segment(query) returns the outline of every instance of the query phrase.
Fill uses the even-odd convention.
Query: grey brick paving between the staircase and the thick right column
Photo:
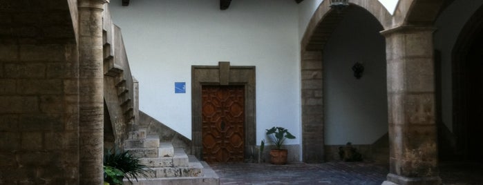
[[[368,163],[210,164],[220,184],[381,184],[388,168]]]

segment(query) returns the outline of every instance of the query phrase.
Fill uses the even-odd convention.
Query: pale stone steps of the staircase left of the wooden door
[[[140,157],[140,163],[151,170],[151,177],[138,178],[134,184],[219,184],[218,175],[205,162],[188,156],[182,148],[173,148],[171,142],[160,142],[158,135],[147,135],[146,128],[129,132],[124,150]]]

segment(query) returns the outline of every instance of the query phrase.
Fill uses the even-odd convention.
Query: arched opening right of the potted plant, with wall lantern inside
[[[303,40],[304,162],[339,160],[339,147],[351,142],[364,159],[388,164],[386,44],[381,30],[374,15],[351,4],[341,12],[325,12],[310,39]],[[356,75],[358,65],[364,70]]]

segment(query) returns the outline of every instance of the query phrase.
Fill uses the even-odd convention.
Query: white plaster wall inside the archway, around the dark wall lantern
[[[349,12],[323,50],[325,144],[372,144],[388,132],[386,48],[379,22]],[[352,66],[364,65],[361,79]]]

